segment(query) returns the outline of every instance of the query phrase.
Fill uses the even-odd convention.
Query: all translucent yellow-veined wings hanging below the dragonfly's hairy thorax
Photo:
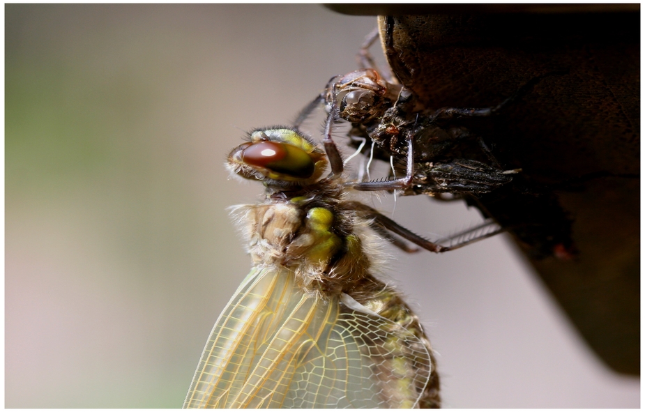
[[[254,268],[215,323],[184,407],[412,407],[430,372],[423,343],[396,323],[347,295],[309,296],[290,270]]]

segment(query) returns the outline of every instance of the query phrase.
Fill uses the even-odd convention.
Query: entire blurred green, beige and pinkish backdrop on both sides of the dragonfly
[[[354,70],[376,18],[5,7],[5,406],[181,407],[250,268],[225,208],[262,188],[229,179],[227,153]],[[426,236],[480,219],[420,196],[372,202]],[[639,379],[602,366],[504,236],[388,252],[390,282],[439,352],[444,406],[639,407]]]

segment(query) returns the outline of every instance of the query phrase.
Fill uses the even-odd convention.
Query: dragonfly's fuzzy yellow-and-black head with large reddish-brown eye
[[[325,152],[296,128],[257,129],[250,141],[229,153],[227,168],[267,186],[304,186],[317,181],[327,165]]]

